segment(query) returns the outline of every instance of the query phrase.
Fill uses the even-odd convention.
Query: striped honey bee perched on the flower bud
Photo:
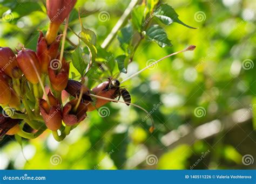
[[[120,81],[118,79],[113,79],[112,77],[109,77],[109,85],[105,87],[104,90],[110,90],[110,89],[116,89],[113,97],[118,97],[118,100],[120,100],[120,97],[122,96],[124,101],[127,102],[126,105],[130,105],[128,103],[131,103],[131,95],[127,89],[120,87]]]

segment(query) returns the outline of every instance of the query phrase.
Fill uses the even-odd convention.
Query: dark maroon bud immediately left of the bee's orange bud
[[[89,89],[78,81],[68,80],[68,84],[65,88],[65,90],[73,97],[78,97],[81,89],[83,90],[83,96],[82,96],[83,101],[84,102],[92,101],[91,97],[88,96],[88,94],[90,94]]]

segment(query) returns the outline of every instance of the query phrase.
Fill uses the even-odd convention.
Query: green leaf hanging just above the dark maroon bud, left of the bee
[[[78,72],[83,76],[85,74],[85,69],[87,64],[83,59],[82,49],[78,46],[72,53],[73,66],[78,70]]]

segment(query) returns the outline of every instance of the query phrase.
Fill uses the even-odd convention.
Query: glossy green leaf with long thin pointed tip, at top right
[[[179,16],[176,13],[176,11],[168,4],[161,4],[153,15],[157,17],[165,25],[170,25],[171,23],[176,22],[191,29],[196,29],[195,27],[191,27],[181,22],[181,20],[178,18]]]

